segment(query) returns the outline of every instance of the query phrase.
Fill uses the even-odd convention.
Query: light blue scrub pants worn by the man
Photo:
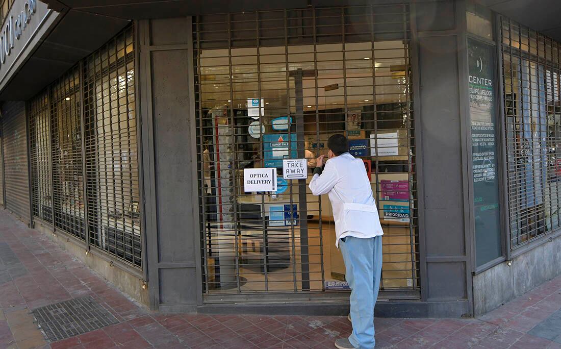
[[[373,349],[374,305],[382,270],[382,237],[347,236],[339,242],[345,262],[345,278],[351,288],[352,333],[349,341],[360,349]]]

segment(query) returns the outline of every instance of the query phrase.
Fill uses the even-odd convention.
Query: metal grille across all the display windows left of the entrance
[[[34,216],[138,270],[134,62],[128,26],[28,105]]]

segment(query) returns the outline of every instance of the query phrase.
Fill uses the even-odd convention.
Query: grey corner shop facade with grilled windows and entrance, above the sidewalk
[[[377,316],[561,270],[553,2],[4,3],[0,203],[151,309],[345,314],[329,200],[282,171],[334,133],[384,227]]]

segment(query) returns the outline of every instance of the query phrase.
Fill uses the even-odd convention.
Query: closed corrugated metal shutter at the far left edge
[[[2,105],[2,126],[6,208],[29,223],[29,168],[24,102],[6,102]]]

